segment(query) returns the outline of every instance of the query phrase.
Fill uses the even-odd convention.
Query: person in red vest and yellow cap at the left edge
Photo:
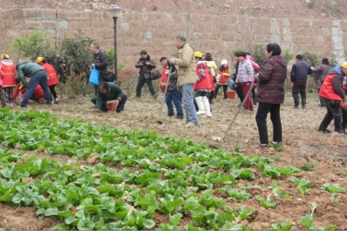
[[[13,89],[16,86],[15,67],[12,60],[10,60],[10,56],[6,54],[1,55],[0,78],[2,80],[3,92],[5,92],[5,104],[8,107],[13,107]]]

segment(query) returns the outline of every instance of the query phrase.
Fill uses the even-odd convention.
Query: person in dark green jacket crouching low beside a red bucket
[[[123,93],[121,87],[119,85],[112,82],[101,82],[99,83],[98,92],[96,96],[92,98],[92,103],[95,105],[95,112],[108,112],[107,103],[117,104],[116,112],[119,113],[124,110],[124,105],[126,104],[126,100],[128,96]]]

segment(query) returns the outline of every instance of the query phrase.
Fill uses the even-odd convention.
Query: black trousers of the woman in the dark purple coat
[[[260,144],[268,144],[269,136],[267,134],[266,117],[270,112],[270,119],[273,125],[273,141],[282,142],[282,123],[280,118],[280,103],[259,103],[255,121],[259,131]]]

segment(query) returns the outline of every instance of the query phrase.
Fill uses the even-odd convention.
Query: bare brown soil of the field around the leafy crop
[[[317,203],[318,206],[313,223],[316,227],[337,225],[339,230],[346,229],[346,194],[339,194],[341,200],[336,206],[332,206],[330,193],[319,189],[323,182],[329,182],[330,184],[339,183],[341,187],[346,189],[346,137],[334,132],[331,135],[317,132],[319,123],[325,114],[325,109],[317,107],[318,99],[308,99],[305,110],[294,110],[292,109],[292,99],[287,98],[285,100],[281,109],[283,128],[282,151],[276,152],[273,148],[264,148],[262,150],[255,148],[259,142],[255,112],[239,114],[225,141],[214,142],[213,136],[223,137],[226,132],[226,128],[228,128],[232,117],[237,111],[236,105],[239,103],[237,99],[224,101],[219,96],[217,102],[212,105],[212,119],[199,118],[201,125],[198,128],[185,128],[179,125],[177,119],[167,117],[166,105],[164,105],[162,114],[164,123],[162,125],[156,123],[161,97],[154,100],[149,99],[149,96],[144,96],[141,101],[130,98],[126,103],[125,111],[121,114],[115,112],[96,114],[92,103],[87,98],[62,100],[60,104],[51,106],[31,104],[31,107],[35,110],[48,110],[53,115],[63,119],[83,119],[85,122],[91,122],[95,126],[112,125],[115,128],[126,130],[154,130],[159,135],[192,139],[194,142],[203,142],[203,144],[212,148],[225,148],[230,152],[235,151],[235,146],[238,145],[241,147],[240,152],[244,155],[258,154],[264,157],[279,155],[280,162],[276,162],[276,165],[280,166],[289,164],[301,169],[301,166],[308,162],[312,166],[312,171],[302,171],[302,173],[298,173],[295,176],[312,181],[314,187],[310,193],[307,195],[298,194],[296,186],[289,182],[286,176],[280,176],[276,180],[278,180],[279,185],[282,185],[283,190],[288,191],[289,195],[293,196],[293,200],[283,200],[275,197],[274,200],[276,200],[277,205],[274,209],[264,209],[255,199],[258,195],[266,198],[266,196],[271,194],[271,189],[268,186],[273,182],[270,178],[263,178],[259,169],[255,169],[255,180],[252,181],[252,184],[260,185],[262,189],[250,189],[251,198],[246,200],[246,202],[236,203],[235,199],[228,197],[226,193],[218,191],[216,191],[215,196],[224,198],[233,209],[237,209],[240,206],[255,208],[256,212],[252,215],[252,219],[242,221],[244,225],[248,225],[248,228],[254,227],[264,230],[271,223],[289,220],[294,223],[291,230],[305,230],[305,226],[299,224],[298,221],[311,211],[311,203]],[[257,106],[255,106],[256,108]],[[17,107],[15,110],[21,109]],[[268,123],[268,128],[271,140],[271,123]],[[330,130],[333,130],[333,128],[330,127]],[[38,155],[40,158],[51,157],[58,163],[69,160],[69,157],[62,155],[25,152],[31,155]],[[244,182],[239,180],[239,182],[246,183],[246,180]],[[167,223],[169,218],[168,215],[164,214],[158,214],[155,217],[155,222],[157,223],[155,228],[158,228],[159,223]],[[33,207],[8,207],[0,204],[0,228],[3,229],[48,230],[62,222],[58,221],[58,219],[43,219],[42,216],[36,216]],[[189,219],[187,221],[182,220],[180,225],[183,228],[185,224],[189,223],[191,223]]]

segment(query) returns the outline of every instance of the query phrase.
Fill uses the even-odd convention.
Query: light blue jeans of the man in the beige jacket
[[[187,123],[195,123],[198,125],[198,115],[196,114],[196,110],[194,107],[193,101],[193,87],[194,84],[185,84],[181,86],[181,92],[183,96],[183,103],[185,104],[185,114],[186,114],[186,122]]]

